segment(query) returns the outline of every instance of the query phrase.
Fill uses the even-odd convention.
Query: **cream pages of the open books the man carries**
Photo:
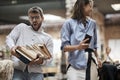
[[[17,48],[17,51],[20,52],[20,54],[23,54],[25,57],[27,56],[30,59],[36,59],[38,57],[49,59],[51,58],[51,54],[48,51],[45,44],[35,44],[35,45],[27,45],[27,46],[21,46]]]

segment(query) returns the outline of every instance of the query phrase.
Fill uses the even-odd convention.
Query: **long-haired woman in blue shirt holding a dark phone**
[[[97,55],[96,21],[91,19],[93,0],[77,0],[73,14],[66,20],[61,29],[61,49],[68,52],[68,80],[97,80],[99,63]],[[92,58],[95,54],[96,60]],[[87,57],[88,56],[88,57]],[[93,61],[92,61],[93,60]],[[91,73],[90,68],[93,68]],[[94,74],[93,74],[94,73]]]

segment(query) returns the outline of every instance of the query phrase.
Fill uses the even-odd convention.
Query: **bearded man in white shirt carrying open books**
[[[42,29],[44,20],[42,9],[38,6],[30,8],[28,17],[31,25],[20,23],[6,37],[6,44],[11,50],[11,59],[14,62],[13,80],[43,80],[41,66],[45,66],[52,60],[53,40]],[[43,46],[33,46],[35,44],[46,47],[44,49],[48,50],[48,58],[41,57],[39,54],[41,52],[39,49],[42,50]],[[27,55],[35,54],[32,51],[35,51],[37,56],[30,59]],[[28,54],[26,55],[24,52]]]

